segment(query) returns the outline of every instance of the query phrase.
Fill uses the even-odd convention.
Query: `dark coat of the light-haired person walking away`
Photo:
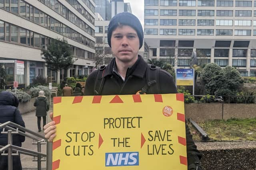
[[[38,96],[34,102],[36,116],[46,116],[49,110],[48,100],[45,96]]]

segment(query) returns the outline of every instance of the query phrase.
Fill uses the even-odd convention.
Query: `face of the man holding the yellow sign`
[[[111,36],[111,49],[116,60],[130,63],[137,59],[140,40],[135,29],[128,25],[118,26]]]

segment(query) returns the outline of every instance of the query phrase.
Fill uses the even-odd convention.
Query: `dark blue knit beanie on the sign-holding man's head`
[[[122,13],[116,14],[110,20],[110,23],[108,24],[108,45],[111,47],[112,32],[116,29],[116,27],[119,24],[129,25],[130,27],[136,30],[138,34],[138,38],[140,40],[140,48],[141,48],[143,44],[143,38],[144,38],[143,28],[140,23],[140,20],[130,12],[122,12]]]

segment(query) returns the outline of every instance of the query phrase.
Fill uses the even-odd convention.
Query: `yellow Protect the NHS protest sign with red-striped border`
[[[53,170],[187,170],[183,94],[54,98]]]

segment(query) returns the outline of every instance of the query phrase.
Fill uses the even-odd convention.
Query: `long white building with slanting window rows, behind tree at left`
[[[37,76],[48,82],[86,75],[94,63],[93,0],[0,0],[0,65],[6,83],[28,86]],[[52,39],[68,41],[75,57],[67,70],[53,72],[42,59]]]

